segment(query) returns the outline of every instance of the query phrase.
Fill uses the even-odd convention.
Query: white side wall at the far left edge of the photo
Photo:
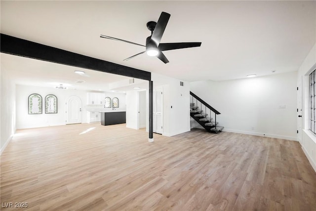
[[[0,70],[0,154],[11,140],[15,129],[15,84],[8,75],[8,70]]]

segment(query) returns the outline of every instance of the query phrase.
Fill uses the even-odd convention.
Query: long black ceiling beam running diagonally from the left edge
[[[147,71],[126,67],[5,34],[0,34],[0,51],[2,53],[151,81],[151,73]]]

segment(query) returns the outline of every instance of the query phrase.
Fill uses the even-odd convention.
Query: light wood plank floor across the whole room
[[[316,210],[316,173],[298,142],[201,129],[154,140],[125,124],[18,130],[1,155],[2,207]]]

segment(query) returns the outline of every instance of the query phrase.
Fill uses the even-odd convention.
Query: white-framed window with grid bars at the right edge
[[[316,70],[310,74],[310,97],[309,97],[309,126],[316,134]]]

